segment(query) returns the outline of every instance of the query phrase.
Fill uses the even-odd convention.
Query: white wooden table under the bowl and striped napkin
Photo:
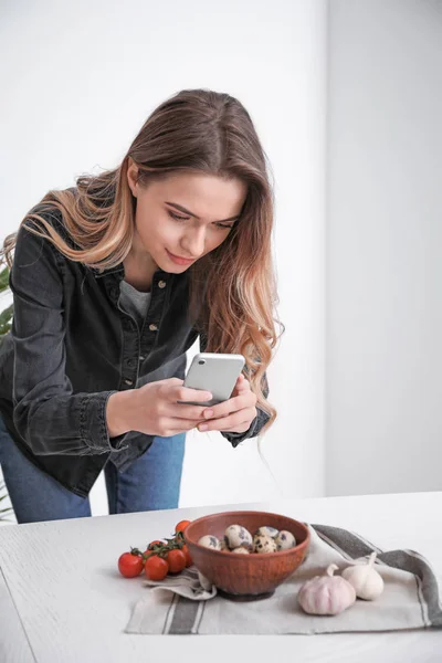
[[[333,635],[128,635],[146,591],[118,576],[131,546],[167,536],[182,519],[242,508],[352,529],[383,549],[412,548],[442,586],[442,492],[272,501],[0,527],[1,663],[251,660],[441,663],[442,630]],[[229,659],[227,640],[236,659]],[[277,655],[276,655],[277,653]]]

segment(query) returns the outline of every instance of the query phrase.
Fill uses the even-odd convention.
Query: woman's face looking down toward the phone
[[[175,274],[227,239],[246,196],[241,180],[211,175],[176,173],[146,187],[136,182],[131,162],[127,177],[137,199],[133,251]]]

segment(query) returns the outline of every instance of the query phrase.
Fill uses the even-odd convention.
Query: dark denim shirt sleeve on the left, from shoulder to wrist
[[[110,393],[73,393],[65,371],[63,261],[49,240],[21,227],[13,293],[13,422],[35,455],[115,451],[106,427]]]

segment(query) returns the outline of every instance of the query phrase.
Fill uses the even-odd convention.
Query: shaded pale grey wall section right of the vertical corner
[[[441,490],[442,3],[333,0],[327,493]]]

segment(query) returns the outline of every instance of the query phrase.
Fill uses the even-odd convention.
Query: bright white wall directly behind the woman
[[[2,234],[50,188],[122,159],[183,87],[250,109],[276,179],[286,334],[270,370],[280,419],[263,442],[189,439],[182,505],[324,493],[325,0],[10,3],[0,24]],[[103,482],[94,513],[105,513]]]

